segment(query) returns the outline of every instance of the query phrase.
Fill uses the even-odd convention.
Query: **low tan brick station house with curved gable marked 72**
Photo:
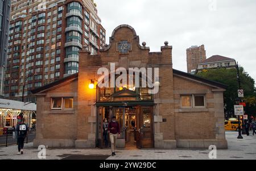
[[[161,52],[150,52],[132,27],[121,25],[99,55],[82,49],[79,73],[32,91],[38,104],[34,145],[104,147],[103,120],[115,115],[118,147],[227,148],[226,86],[172,69],[172,46],[164,44]],[[110,69],[111,63],[115,69],[159,68],[159,92],[148,94],[148,87],[134,85],[98,87],[97,70]]]

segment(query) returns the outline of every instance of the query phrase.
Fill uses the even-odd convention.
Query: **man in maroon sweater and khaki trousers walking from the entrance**
[[[112,156],[115,155],[115,144],[117,142],[117,137],[120,136],[120,129],[119,129],[119,124],[116,122],[116,117],[112,117],[112,121],[109,123],[109,137],[110,137],[110,142],[111,142],[111,151],[112,151]]]

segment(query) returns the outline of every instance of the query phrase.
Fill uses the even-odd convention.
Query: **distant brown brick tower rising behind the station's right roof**
[[[197,64],[201,61],[206,60],[206,53],[204,45],[192,46],[187,49],[187,72],[193,73],[197,68]]]

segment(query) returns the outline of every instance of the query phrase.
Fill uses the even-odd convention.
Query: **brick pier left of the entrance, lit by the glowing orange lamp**
[[[96,67],[80,68],[78,80],[77,140],[75,147],[96,147]],[[95,82],[94,89],[89,84]]]

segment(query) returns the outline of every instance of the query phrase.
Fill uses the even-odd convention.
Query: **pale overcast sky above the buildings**
[[[187,72],[186,49],[205,45],[207,57],[236,59],[256,80],[255,0],[94,0],[106,29],[132,26],[151,52],[172,45],[174,69]]]

